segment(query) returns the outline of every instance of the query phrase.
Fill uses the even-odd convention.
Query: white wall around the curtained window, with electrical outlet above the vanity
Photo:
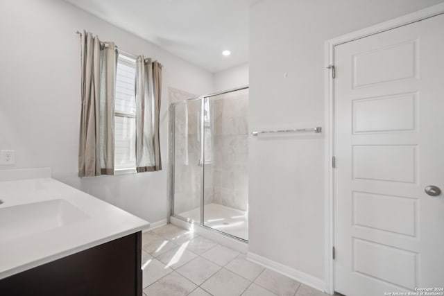
[[[80,39],[85,28],[121,49],[164,64],[163,171],[77,177],[80,122]],[[147,28],[149,30],[149,28]],[[167,218],[168,87],[213,90],[213,75],[64,1],[0,1],[0,149],[16,151],[15,166],[50,166],[53,177],[150,222]]]

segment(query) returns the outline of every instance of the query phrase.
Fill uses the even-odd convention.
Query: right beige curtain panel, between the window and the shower
[[[136,63],[136,168],[160,171],[160,101],[162,64],[139,55]]]

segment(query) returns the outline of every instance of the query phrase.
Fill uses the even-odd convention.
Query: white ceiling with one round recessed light
[[[249,8],[259,0],[65,1],[215,73],[248,62]]]

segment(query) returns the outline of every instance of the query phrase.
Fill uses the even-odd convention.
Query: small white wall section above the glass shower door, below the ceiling
[[[224,71],[214,73],[214,92],[223,92],[248,85],[248,64],[241,64]]]

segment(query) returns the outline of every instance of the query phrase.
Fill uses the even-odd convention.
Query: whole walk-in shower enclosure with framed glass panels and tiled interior
[[[248,241],[248,87],[169,112],[171,216]]]

